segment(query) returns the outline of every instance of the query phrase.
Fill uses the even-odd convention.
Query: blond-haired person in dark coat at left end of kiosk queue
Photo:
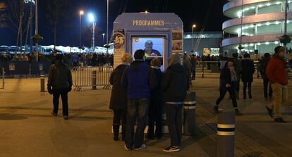
[[[109,103],[109,109],[114,111],[113,130],[114,140],[118,141],[118,132],[120,130],[120,122],[122,123],[122,140],[125,139],[126,132],[126,115],[127,115],[127,89],[121,84],[121,77],[123,71],[133,61],[133,57],[130,54],[124,54],[121,58],[122,64],[118,65],[111,77],[109,82],[113,85],[111,90],[111,101]]]

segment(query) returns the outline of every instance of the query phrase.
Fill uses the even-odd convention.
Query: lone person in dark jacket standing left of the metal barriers
[[[72,89],[72,75],[68,66],[63,63],[63,56],[56,55],[56,63],[51,65],[49,69],[49,77],[47,83],[49,94],[53,94],[54,110],[51,111],[52,115],[58,114],[59,98],[61,95],[63,118],[68,120],[68,92]]]

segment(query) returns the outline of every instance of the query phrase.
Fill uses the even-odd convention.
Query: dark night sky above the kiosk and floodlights
[[[5,0],[0,0],[5,1]],[[14,0],[13,0],[14,1]],[[61,1],[61,0],[60,0]],[[57,45],[78,46],[79,43],[79,11],[85,11],[83,17],[83,29],[90,27],[87,20],[87,13],[94,13],[97,16],[97,45],[102,45],[102,33],[106,32],[107,27],[107,0],[71,0],[71,14],[66,23],[58,27]],[[127,13],[137,13],[141,11],[176,13],[184,23],[184,31],[190,32],[193,23],[197,25],[196,30],[200,31],[204,23],[208,9],[210,10],[209,19],[205,31],[221,31],[221,25],[226,20],[222,13],[223,5],[227,0],[214,0],[214,4],[209,4],[213,0],[109,0],[109,32],[113,27],[116,17],[123,11]],[[51,27],[47,22],[44,5],[39,2],[39,34],[42,34],[44,41],[40,44],[49,45],[53,43]],[[0,45],[16,45],[17,33],[9,28],[0,28]],[[85,37],[84,37],[85,38]],[[83,41],[85,46],[86,40]]]

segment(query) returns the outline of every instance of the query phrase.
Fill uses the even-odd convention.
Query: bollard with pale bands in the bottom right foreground
[[[234,156],[235,113],[222,112],[217,124],[217,157]]]

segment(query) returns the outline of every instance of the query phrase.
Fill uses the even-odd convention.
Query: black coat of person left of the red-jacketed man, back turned
[[[241,80],[243,82],[253,82],[253,74],[255,73],[255,65],[250,59],[241,60]]]

